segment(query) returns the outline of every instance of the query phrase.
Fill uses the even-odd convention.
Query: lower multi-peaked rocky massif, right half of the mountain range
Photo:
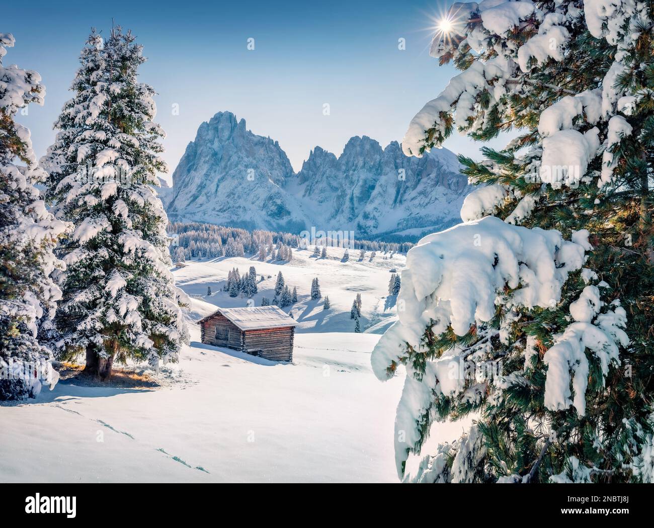
[[[384,149],[369,137],[353,137],[336,158],[316,148],[298,173],[301,198],[329,225],[354,226],[355,234],[449,227],[459,222],[466,178],[446,149],[407,157],[398,142]]]

